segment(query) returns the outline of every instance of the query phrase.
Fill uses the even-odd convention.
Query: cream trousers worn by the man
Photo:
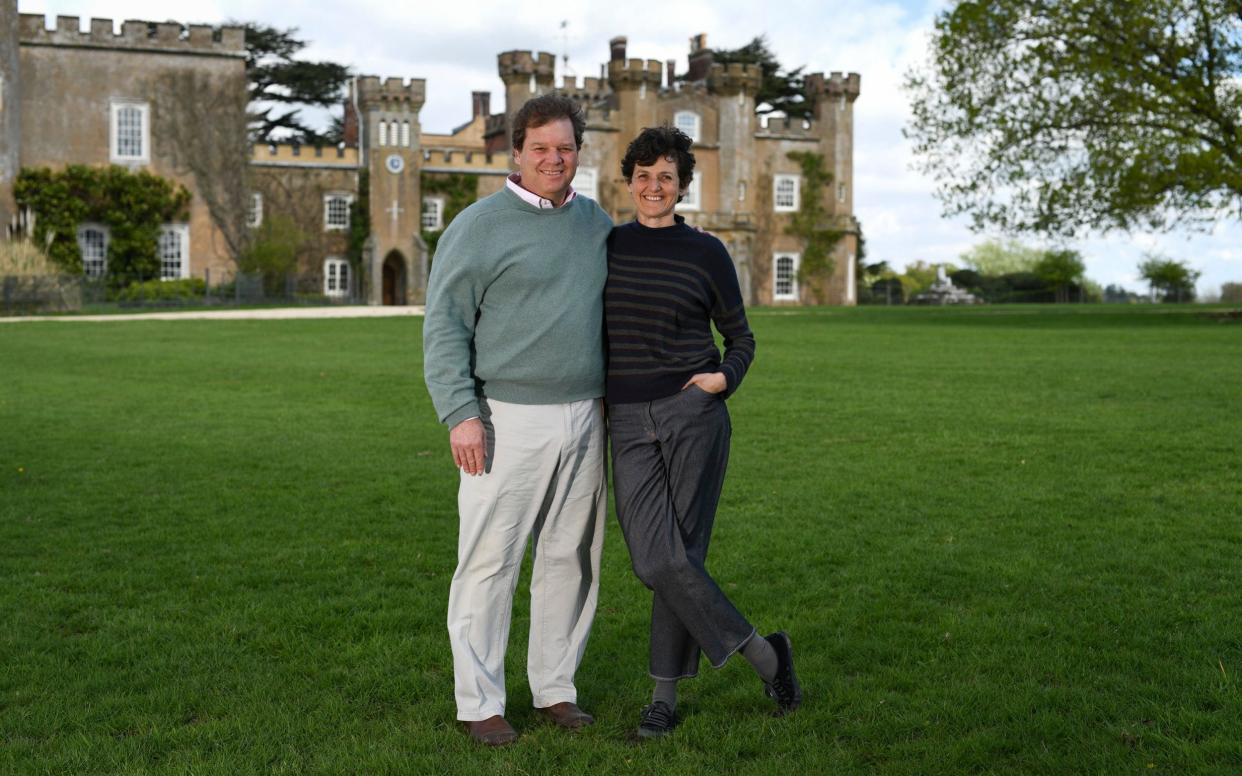
[[[607,517],[599,400],[483,402],[487,468],[461,476],[457,571],[448,592],[457,719],[504,714],[513,592],[532,539],[527,678],[535,708],[578,702],[574,673],[599,597]]]

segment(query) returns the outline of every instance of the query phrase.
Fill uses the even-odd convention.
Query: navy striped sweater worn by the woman
[[[607,400],[672,396],[698,372],[724,372],[728,397],[755,356],[738,273],[724,245],[677,216],[674,226],[631,221],[609,237],[604,293]],[[710,325],[724,338],[724,356]]]

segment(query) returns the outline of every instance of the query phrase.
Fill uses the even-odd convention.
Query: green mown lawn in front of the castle
[[[0,772],[1231,774],[1242,322],[755,310],[712,570],[794,637],[637,744],[648,593],[609,525],[599,724],[453,723],[456,473],[419,319],[0,325]],[[519,586],[524,590],[525,584]]]

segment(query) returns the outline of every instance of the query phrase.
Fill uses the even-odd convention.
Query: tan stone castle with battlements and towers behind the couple
[[[443,191],[465,185],[473,199],[502,187],[514,169],[513,114],[530,97],[556,91],[578,101],[587,120],[574,187],[614,220],[633,217],[620,174],[630,139],[643,127],[676,125],[694,140],[698,160],[678,212],[729,247],[748,303],[853,304],[858,74],[810,74],[810,119],[763,120],[754,112],[759,67],[713,62],[705,36],[691,40],[683,74],[676,61],[627,58],[626,47],[625,37],[612,38],[599,78],[560,83],[551,53],[505,51],[497,61],[505,111],[492,113],[491,94],[474,92],[471,119],[450,134],[422,132],[422,79],[356,77],[345,97],[339,148],[256,145],[248,149],[248,165],[236,165],[246,169],[210,178],[178,153],[185,125],[199,127],[193,144],[210,151],[212,144],[241,137],[243,120],[241,127],[196,117],[188,122],[181,113],[194,106],[176,94],[185,88],[168,84],[193,83],[199,102],[209,93],[243,97],[240,27],[125,21],[117,35],[111,20],[93,19],[83,30],[77,17],[60,16],[48,30],[43,16],[19,14],[16,0],[0,0],[0,223],[21,228],[31,217],[12,200],[22,168],[76,163],[147,169],[193,195],[188,221],[161,232],[164,277],[220,278],[236,266],[229,223],[221,228],[209,200],[221,184],[243,186],[246,227],[283,216],[306,235],[298,273],[308,288],[370,304],[419,303],[432,258],[427,242],[453,215]],[[807,194],[791,151],[821,156],[831,183]],[[804,196],[820,197],[823,226],[845,233],[832,248],[831,276],[810,282],[799,279],[805,240],[790,231]],[[364,204],[369,235],[361,258],[351,262],[350,212]],[[78,241],[88,274],[106,271],[106,226],[84,223],[65,238]]]

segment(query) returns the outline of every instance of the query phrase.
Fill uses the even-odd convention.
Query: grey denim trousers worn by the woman
[[[724,400],[698,386],[609,405],[617,519],[653,592],[656,679],[697,675],[700,652],[719,668],[755,632],[705,567],[732,431]]]

